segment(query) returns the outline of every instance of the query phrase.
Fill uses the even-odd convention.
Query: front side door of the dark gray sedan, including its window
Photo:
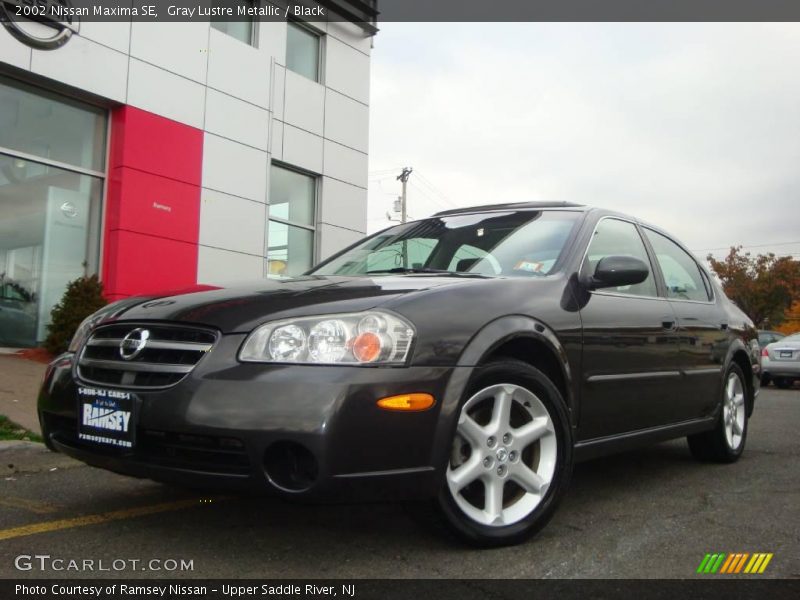
[[[637,285],[589,293],[580,310],[583,378],[579,439],[673,422],[678,339],[669,302],[659,296],[653,265],[637,225],[605,217],[595,227],[581,266],[594,272],[604,256],[627,255],[650,266]]]

